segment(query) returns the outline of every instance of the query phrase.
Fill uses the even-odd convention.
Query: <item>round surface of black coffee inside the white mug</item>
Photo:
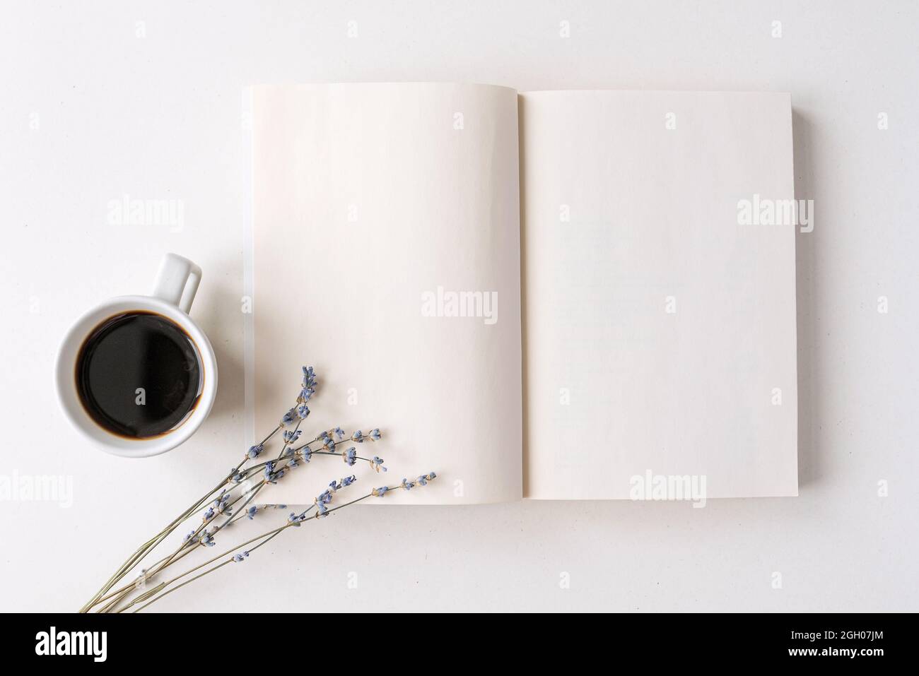
[[[165,434],[193,411],[201,389],[194,341],[174,321],[134,311],[99,324],[76,358],[76,390],[109,432]]]

